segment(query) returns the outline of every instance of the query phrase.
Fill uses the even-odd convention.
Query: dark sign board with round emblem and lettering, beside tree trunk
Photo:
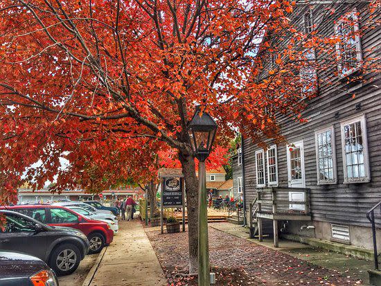
[[[164,208],[181,208],[183,205],[183,184],[182,179],[163,178],[163,197]]]

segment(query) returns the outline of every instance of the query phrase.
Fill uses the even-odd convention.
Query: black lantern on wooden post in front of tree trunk
[[[199,160],[198,189],[199,189],[199,220],[198,220],[198,285],[211,285],[209,268],[208,242],[208,210],[206,208],[206,170],[205,160],[208,158],[217,124],[209,114],[201,113],[200,106],[196,107],[195,114],[189,124],[190,145],[195,157]]]

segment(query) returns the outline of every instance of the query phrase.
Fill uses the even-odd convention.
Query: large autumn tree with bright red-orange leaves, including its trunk
[[[96,190],[121,177],[118,171],[142,170],[139,163],[147,166],[152,150],[176,150],[194,273],[198,197],[188,122],[202,105],[219,125],[216,145],[226,146],[236,129],[279,137],[277,112],[303,119],[301,99],[313,95],[300,92],[297,74],[308,60],[300,47],[329,50],[339,39],[296,30],[294,6],[285,0],[1,1],[6,182],[0,181],[0,203],[15,199],[24,177],[35,179],[35,187],[56,179],[57,190],[78,183]],[[274,35],[287,39],[282,50],[272,45]],[[274,51],[276,69],[268,67]],[[122,170],[129,162],[135,163]]]

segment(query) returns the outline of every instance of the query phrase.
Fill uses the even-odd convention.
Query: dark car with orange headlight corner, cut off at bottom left
[[[0,286],[21,285],[58,286],[58,280],[54,271],[41,259],[13,251],[0,251]]]

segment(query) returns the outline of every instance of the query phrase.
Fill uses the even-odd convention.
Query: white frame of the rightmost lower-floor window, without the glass
[[[364,172],[365,177],[348,179],[348,172],[346,170],[346,155],[345,155],[345,135],[344,125],[353,124],[360,121],[362,132],[362,150],[364,152]],[[369,168],[369,152],[368,152],[368,135],[366,133],[366,119],[365,115],[361,114],[353,118],[348,118],[340,123],[340,132],[342,133],[342,157],[343,157],[343,169],[344,169],[344,184],[356,184],[356,183],[368,183],[371,181],[371,170]]]

